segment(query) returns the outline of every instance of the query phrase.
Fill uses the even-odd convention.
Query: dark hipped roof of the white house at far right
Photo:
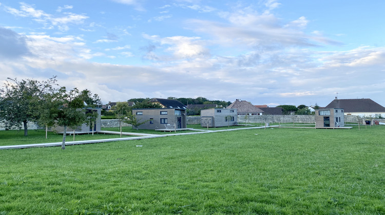
[[[385,107],[372,99],[334,99],[325,108],[341,108],[345,113],[385,112]]]

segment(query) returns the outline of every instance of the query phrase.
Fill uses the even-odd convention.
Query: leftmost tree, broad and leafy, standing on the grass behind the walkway
[[[26,79],[18,81],[16,78],[7,78],[4,88],[0,90],[0,118],[5,120],[6,128],[24,126],[24,136],[28,136],[29,121],[37,121],[41,107],[41,99],[47,93],[52,93],[56,84],[56,76],[46,80],[37,81]]]

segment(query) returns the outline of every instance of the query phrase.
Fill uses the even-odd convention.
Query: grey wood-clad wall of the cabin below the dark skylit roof
[[[186,111],[180,110],[182,112],[181,116],[175,115],[176,109],[133,109],[132,114],[137,117],[137,120],[139,122],[143,122],[145,120],[147,121],[144,124],[141,124],[138,126],[139,129],[148,129],[148,130],[155,130],[155,129],[162,129],[166,128],[167,124],[174,125],[176,124],[176,127],[178,128],[178,121],[177,118],[181,117],[181,128],[186,128]],[[179,110],[179,109],[177,109]],[[167,111],[167,115],[161,115],[161,112]],[[137,112],[142,112],[143,115],[137,115]],[[167,119],[167,123],[161,123],[161,119]]]

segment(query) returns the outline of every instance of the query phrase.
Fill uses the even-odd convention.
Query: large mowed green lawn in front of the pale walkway
[[[384,134],[268,128],[0,150],[0,214],[385,214]]]

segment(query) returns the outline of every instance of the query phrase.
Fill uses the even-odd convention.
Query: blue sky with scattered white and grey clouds
[[[47,80],[103,103],[205,97],[385,106],[385,1],[0,0],[0,83]]]

